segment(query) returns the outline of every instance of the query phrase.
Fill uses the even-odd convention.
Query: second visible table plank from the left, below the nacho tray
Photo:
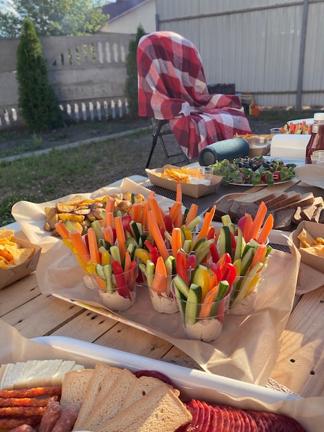
[[[64,302],[48,294],[35,297],[32,302],[15,308],[1,319],[24,337],[50,335],[54,330],[84,311],[83,308]]]

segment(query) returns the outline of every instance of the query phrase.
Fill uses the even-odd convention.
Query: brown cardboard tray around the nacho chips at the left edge
[[[20,266],[0,268],[0,289],[13,284],[13,282],[16,282],[32,273],[32,271],[35,271],[39,262],[39,256],[41,255],[40,246],[15,237],[11,237],[11,240],[12,242],[19,244],[22,248],[34,248],[35,251],[32,257],[23,264],[20,264]]]

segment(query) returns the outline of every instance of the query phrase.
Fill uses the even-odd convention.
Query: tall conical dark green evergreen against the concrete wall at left
[[[63,126],[59,99],[48,81],[48,64],[33,23],[26,18],[17,49],[19,110],[32,132]]]

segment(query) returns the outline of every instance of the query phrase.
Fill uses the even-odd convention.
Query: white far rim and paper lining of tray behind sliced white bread
[[[32,341],[59,349],[69,357],[77,356],[79,360],[81,360],[81,357],[85,361],[92,360],[94,364],[105,362],[110,366],[127,368],[132,372],[143,369],[159,371],[170,377],[170,380],[174,382],[181,393],[182,400],[194,398],[209,403],[227,404],[241,409],[272,411],[296,418],[309,432],[319,432],[321,430],[323,413],[317,411],[322,398],[312,398],[312,409],[310,409],[310,403],[307,400],[290,393],[239,382],[221,375],[205,373],[162,360],[126,353],[114,348],[75,340],[71,337],[36,337]],[[314,408],[314,404],[316,404],[317,408]]]

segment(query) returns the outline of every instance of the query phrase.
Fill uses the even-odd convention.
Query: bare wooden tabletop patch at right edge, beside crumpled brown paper
[[[324,395],[324,286],[301,297],[287,322],[272,378],[303,397]]]

